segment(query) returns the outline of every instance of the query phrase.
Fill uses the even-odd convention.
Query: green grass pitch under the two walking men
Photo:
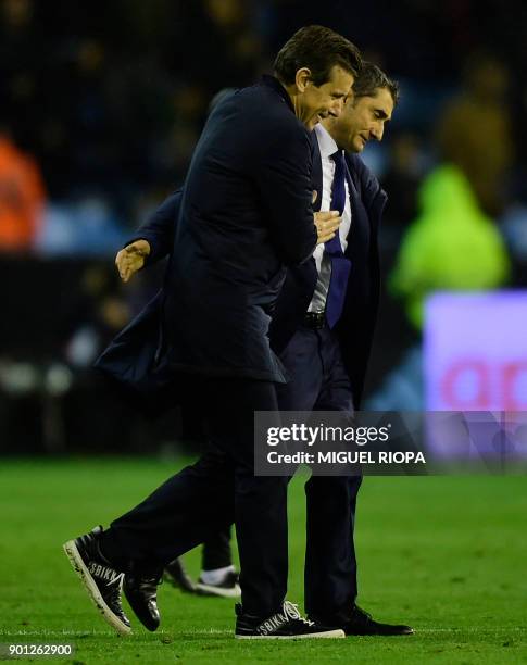
[[[71,642],[52,662],[527,663],[527,478],[366,478],[357,507],[359,603],[412,637],[247,642],[233,601],[159,592],[162,627],[120,638],[96,612],[63,541],[131,507],[171,461],[0,461],[0,642]],[[303,479],[290,487],[289,599],[302,600]],[[186,556],[196,575],[199,552]]]

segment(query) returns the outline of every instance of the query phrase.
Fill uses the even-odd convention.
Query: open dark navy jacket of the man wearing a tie
[[[318,145],[315,136],[312,137],[313,171],[312,188],[318,192],[316,201],[322,201],[322,162]],[[344,364],[352,384],[353,402],[359,409],[364,387],[367,360],[371,352],[375,321],[379,301],[379,260],[378,260],[378,228],[382,209],[386,203],[386,193],[379,186],[378,180],[365,166],[362,160],[352,154],[346,155],[348,165],[348,187],[352,211],[352,224],[350,228],[347,255],[352,261],[352,269],[347,289],[347,300],[336,332],[340,340]],[[173,237],[176,233],[178,211],[183,201],[183,190],[170,196],[164,203],[151,215],[151,217],[137,231],[131,239],[145,238],[149,241],[151,253],[148,263],[155,263],[167,254],[173,248]],[[131,241],[130,240],[130,241]],[[174,261],[177,262],[175,256]],[[315,260],[311,256],[301,265],[290,266],[284,281],[278,299],[273,306],[273,317],[268,330],[271,347],[276,353],[280,353],[294,335],[308,310],[313,297],[317,279]],[[135,379],[140,381],[145,375],[148,359],[153,355],[156,347],[155,330],[159,329],[159,316],[156,304],[147,309],[146,316],[139,316],[130,324],[133,338],[143,338],[143,352],[139,357],[146,359],[134,362],[131,367],[137,371]],[[151,322],[150,335],[141,332],[139,327],[145,322]],[[151,340],[147,348],[147,339]],[[118,338],[117,338],[118,343]],[[115,347],[115,342],[114,342]],[[130,346],[133,348],[133,344]],[[110,348],[110,357],[115,355],[115,348]],[[126,355],[126,351],[125,351]],[[116,369],[121,365],[117,362]],[[115,366],[110,364],[110,372],[115,374]]]

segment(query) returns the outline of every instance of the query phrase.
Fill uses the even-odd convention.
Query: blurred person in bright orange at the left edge
[[[33,250],[46,193],[38,166],[0,128],[0,252]]]

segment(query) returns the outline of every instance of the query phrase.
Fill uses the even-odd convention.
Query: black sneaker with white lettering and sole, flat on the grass
[[[304,638],[343,638],[344,631],[340,628],[327,628],[314,622],[303,618],[298,610],[289,601],[285,601],[281,612],[277,612],[268,618],[262,619],[258,616],[243,614],[240,604],[236,605],[236,632],[235,637],[240,640],[298,640]]]

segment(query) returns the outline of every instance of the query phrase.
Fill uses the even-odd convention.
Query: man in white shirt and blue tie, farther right
[[[331,240],[319,243],[309,261],[290,267],[276,302],[271,346],[290,377],[277,390],[281,410],[351,412],[360,407],[378,309],[377,236],[386,195],[357,153],[368,140],[382,139],[398,95],[393,81],[364,63],[343,113],[323,121],[313,133],[315,208],[339,208],[340,246],[336,251]],[[148,242],[154,241],[151,260],[170,252],[180,197],[180,192],[168,197],[138,231]],[[317,222],[321,235],[326,233],[324,224]],[[141,267],[140,252],[141,246],[133,244],[121,253],[117,263],[124,277]],[[336,259],[337,269],[339,263],[344,269],[349,263],[350,269],[344,289],[328,303],[335,298],[330,277]],[[361,480],[312,477],[306,484],[305,607],[310,616],[341,626],[348,635],[407,635],[410,627],[375,622],[355,604],[353,524]]]

